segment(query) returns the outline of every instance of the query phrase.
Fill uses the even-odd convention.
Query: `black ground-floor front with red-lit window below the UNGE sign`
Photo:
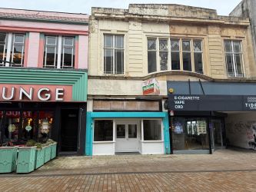
[[[85,154],[86,103],[0,102],[0,143],[58,142],[58,154]]]

